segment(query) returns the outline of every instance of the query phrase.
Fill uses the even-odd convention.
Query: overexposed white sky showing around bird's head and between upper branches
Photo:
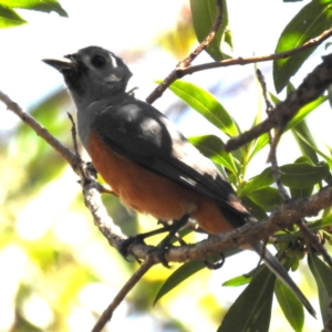
[[[20,13],[29,24],[8,30],[0,30],[2,50],[0,54],[0,90],[7,93],[24,110],[38,100],[63,85],[62,76],[45,65],[41,59],[61,59],[64,54],[75,52],[87,45],[100,45],[115,53],[133,54],[133,50],[145,50],[146,54],[139,61],[128,56],[125,59],[134,73],[132,86],[139,86],[136,96],[145,98],[155,87],[155,80],[165,77],[176,65],[177,60],[160,51],[156,43],[157,37],[170,29],[177,20],[177,13],[184,2],[179,0],[71,0],[60,1],[69,13],[69,19],[60,18],[56,13],[44,14],[21,10]],[[232,0],[229,2],[230,29],[232,31],[235,56],[251,56],[252,54],[270,54],[276,48],[276,40],[287,22],[304,3],[293,2],[284,4],[281,0]],[[324,54],[322,48],[315,56],[301,69],[294,84],[299,84],[303,76],[317,64]],[[197,61],[211,61],[203,54]],[[261,64],[267,74],[269,86],[271,82],[271,63]],[[242,82],[243,77],[252,77],[253,66],[234,66],[198,73],[194,82],[209,86],[209,82],[221,81],[225,92],[221,93],[222,103],[243,126],[248,118],[253,118],[259,102],[257,86],[253,81]],[[252,79],[251,79],[252,80]],[[235,97],[231,86],[240,85],[239,97]],[[156,106],[164,111],[176,98],[167,93],[166,97],[157,101]],[[0,105],[0,132],[11,128],[18,120],[4,111]],[[320,120],[318,115],[317,121]],[[190,125],[188,125],[188,123]],[[320,125],[330,126],[331,121]],[[199,115],[190,114],[181,118],[179,127],[186,135],[199,131],[210,131],[203,125]],[[320,136],[323,129],[314,135]],[[1,135],[0,135],[1,137]],[[323,137],[322,139],[325,139]],[[262,156],[262,159],[266,156]],[[286,159],[293,162],[293,156],[286,155]],[[267,165],[268,166],[268,165]],[[250,270],[251,262],[246,267],[246,259],[234,260],[234,264]],[[220,276],[215,274],[215,281],[220,283]],[[217,280],[218,279],[218,280]],[[226,298],[235,298],[234,290],[224,290]],[[309,322],[310,324],[310,322]],[[313,322],[312,324],[315,324]],[[314,325],[313,325],[314,326]]]

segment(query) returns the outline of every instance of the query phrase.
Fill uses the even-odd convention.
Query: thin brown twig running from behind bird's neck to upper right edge
[[[330,38],[332,35],[332,29],[325,30],[323,33],[321,33],[319,37],[311,39],[303,45],[280,52],[280,53],[273,53],[269,55],[260,55],[260,56],[248,56],[248,58],[235,58],[235,59],[227,59],[222,60],[219,62],[209,62],[209,63],[204,63],[199,65],[193,65],[188,66],[181,70],[173,71],[167,77],[147,96],[146,102],[147,103],[153,103],[155,100],[160,97],[164,93],[164,91],[177,79],[184,77],[185,75],[190,75],[200,71],[206,71],[210,69],[216,69],[216,68],[222,68],[222,66],[230,66],[230,65],[245,65],[249,63],[258,63],[258,62],[266,62],[266,61],[273,61],[278,59],[287,59],[292,55],[295,55],[298,53],[301,53],[310,48],[315,48],[319,44],[321,44],[324,40]]]

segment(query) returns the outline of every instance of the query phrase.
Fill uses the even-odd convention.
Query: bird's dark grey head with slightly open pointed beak
[[[70,61],[43,61],[63,74],[74,100],[80,96],[93,102],[124,92],[132,76],[122,59],[102,48],[85,48],[64,58]]]

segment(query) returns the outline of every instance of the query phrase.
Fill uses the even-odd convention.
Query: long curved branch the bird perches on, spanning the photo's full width
[[[12,102],[6,94],[0,92],[0,101],[2,101],[8,110],[20,116],[27,125],[29,125],[38,135],[40,135],[51,146],[58,151],[68,162],[76,163],[76,155],[64,147],[58,139],[55,139],[45,128],[43,128],[31,115],[23,112],[21,107]],[[28,121],[27,121],[28,120]],[[68,155],[70,156],[68,158]],[[74,167],[75,169],[76,167]],[[81,180],[83,186],[83,194],[85,204],[93,216],[95,225],[106,237],[110,245],[120,249],[126,237],[121,229],[113,224],[112,218],[108,217],[104,208],[101,194],[98,191],[98,184],[94,180],[93,175],[89,181],[84,178]],[[266,239],[278,230],[290,227],[303,217],[315,216],[321,209],[331,206],[332,201],[332,186],[326,186],[318,194],[308,198],[291,200],[282,205],[266,220],[255,224],[248,224],[243,227],[229,231],[227,234],[210,237],[196,245],[187,245],[183,247],[175,247],[166,253],[167,261],[185,262],[188,260],[204,260],[216,253],[227,251],[237,247],[256,242],[260,239]],[[128,251],[138,259],[146,259],[149,256],[151,260],[158,262],[157,253],[152,249],[154,247],[144,243],[133,243],[128,247]]]

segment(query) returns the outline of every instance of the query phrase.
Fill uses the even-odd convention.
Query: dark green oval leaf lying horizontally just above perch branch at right
[[[328,164],[313,166],[307,163],[295,163],[283,165],[279,169],[282,184],[295,189],[311,187],[329,174]]]

